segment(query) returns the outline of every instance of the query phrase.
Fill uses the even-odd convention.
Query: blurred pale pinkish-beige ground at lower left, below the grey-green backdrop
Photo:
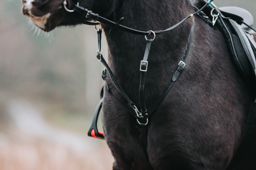
[[[49,125],[27,101],[16,99],[8,106],[17,129],[0,133],[0,170],[111,169],[105,143]]]

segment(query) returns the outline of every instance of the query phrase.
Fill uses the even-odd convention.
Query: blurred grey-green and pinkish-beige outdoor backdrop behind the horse
[[[255,0],[214,3],[256,19]],[[21,6],[0,0],[0,170],[111,170],[105,141],[87,137],[103,84],[94,26],[45,34]]]

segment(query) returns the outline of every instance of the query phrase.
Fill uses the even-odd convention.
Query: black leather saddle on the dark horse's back
[[[203,0],[207,1],[207,0]],[[213,10],[215,9],[215,10]],[[221,8],[223,10],[225,8]],[[226,9],[232,9],[235,14],[231,14],[229,12],[222,12],[215,6],[214,3],[209,5],[206,13],[209,14],[209,11],[213,10],[214,14],[220,13],[218,20],[216,20],[215,26],[221,31],[224,35],[224,38],[227,43],[228,50],[230,52],[230,56],[233,59],[233,62],[238,69],[239,73],[242,77],[251,85],[253,88],[253,92],[256,92],[256,43],[253,38],[247,35],[248,31],[244,31],[243,28],[233,19],[243,21],[242,17],[239,17],[238,14],[241,11],[246,11],[242,8],[236,7],[227,7]],[[238,9],[235,11],[234,9]],[[248,12],[249,13],[249,12]],[[246,16],[251,15],[245,14]],[[243,16],[244,17],[244,16]],[[250,19],[251,23],[253,23],[253,19]],[[250,38],[248,38],[250,37]]]

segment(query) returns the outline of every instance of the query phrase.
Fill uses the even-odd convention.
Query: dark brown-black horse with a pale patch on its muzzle
[[[22,0],[23,14],[44,31],[77,25],[85,15],[69,13],[64,0]],[[67,8],[73,2],[67,0]],[[87,8],[114,22],[137,30],[163,30],[178,23],[194,8],[189,0],[81,0]],[[195,0],[195,6],[202,6]],[[204,4],[203,4],[204,5]],[[114,156],[113,170],[225,170],[242,140],[253,95],[239,75],[224,37],[201,18],[195,30],[186,67],[147,125],[147,148],[140,125],[121,103],[123,96],[110,78],[105,85],[102,122]],[[156,35],[148,56],[145,105],[159,97],[183,57],[193,20]],[[108,61],[117,82],[140,110],[140,61],[144,36],[102,24],[108,42]],[[108,74],[107,74],[108,77]],[[255,152],[236,170],[256,168]],[[254,168],[253,168],[254,167]]]

